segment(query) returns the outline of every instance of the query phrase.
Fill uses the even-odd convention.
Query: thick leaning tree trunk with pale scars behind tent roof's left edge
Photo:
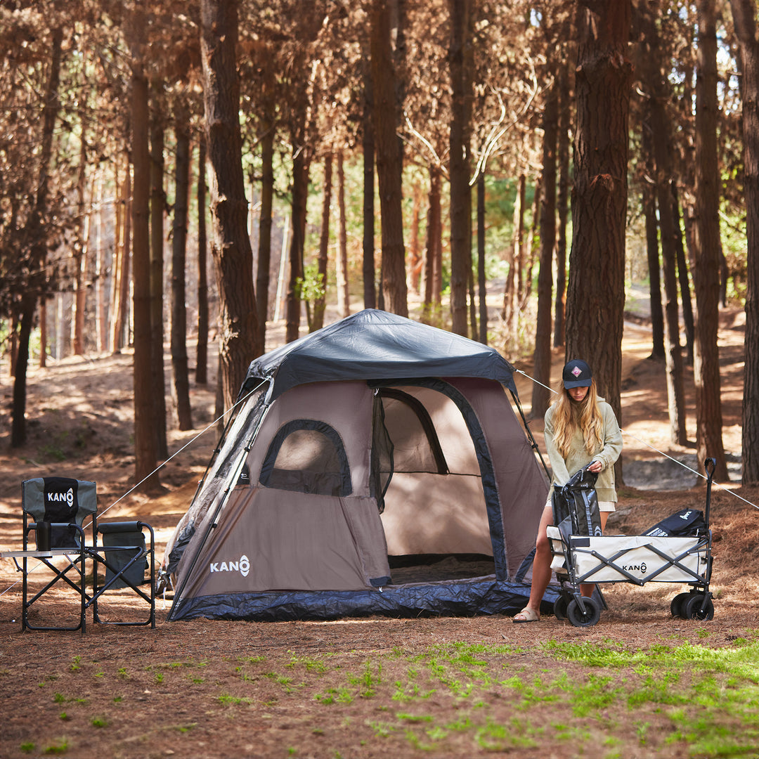
[[[201,0],[200,50],[206,112],[206,149],[211,166],[213,257],[219,282],[220,374],[225,408],[231,408],[258,339],[253,252],[247,235],[247,200],[241,159],[240,92],[237,74],[238,4]]]

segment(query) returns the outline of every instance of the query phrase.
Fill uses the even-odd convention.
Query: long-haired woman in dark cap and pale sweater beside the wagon
[[[598,474],[596,494],[603,530],[609,512],[615,509],[614,463],[622,452],[622,430],[612,407],[599,397],[591,367],[584,361],[569,361],[564,367],[562,389],[546,411],[545,422],[553,487],[562,487],[572,474],[589,464],[587,468]],[[553,524],[551,493],[537,531],[530,600],[513,622],[540,619],[540,601],[551,579],[551,549],[546,536],[550,524]],[[592,584],[581,586],[584,596],[590,596],[593,589]]]

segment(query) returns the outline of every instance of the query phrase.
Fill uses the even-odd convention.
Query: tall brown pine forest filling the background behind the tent
[[[745,305],[759,481],[756,16],[751,0],[0,0],[11,445],[30,361],[134,348],[141,480],[166,455],[165,342],[190,429],[191,375],[218,353],[228,407],[267,324],[295,339],[326,304],[411,302],[532,354],[544,385],[552,348],[593,356],[619,411],[634,281],[672,441],[693,364],[699,458],[720,466],[716,320]],[[536,386],[533,412],[547,402]]]

